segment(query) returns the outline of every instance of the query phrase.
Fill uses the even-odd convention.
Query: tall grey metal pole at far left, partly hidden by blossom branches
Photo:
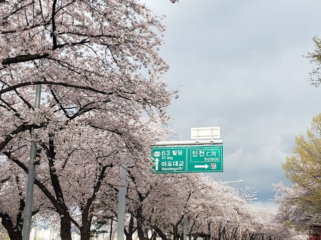
[[[41,67],[40,65],[42,66],[42,61],[39,61],[39,68]],[[41,99],[41,85],[37,85],[35,109],[40,107],[40,99]],[[36,137],[37,135],[35,134],[34,136]],[[35,182],[36,155],[37,155],[36,142],[32,142],[30,146],[28,183],[27,183],[27,192],[26,192],[26,206],[25,206],[25,217],[24,217],[22,240],[29,240],[29,237],[30,237],[31,213],[32,213],[32,202],[33,202],[34,182]]]

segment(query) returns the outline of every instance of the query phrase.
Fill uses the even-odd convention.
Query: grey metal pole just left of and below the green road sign
[[[126,166],[119,165],[119,194],[118,194],[118,219],[117,219],[117,240],[124,239],[125,227],[125,191],[126,191]]]

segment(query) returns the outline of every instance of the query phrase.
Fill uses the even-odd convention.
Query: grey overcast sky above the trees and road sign
[[[224,172],[217,180],[256,187],[273,208],[272,183],[287,182],[281,164],[321,112],[321,87],[310,85],[312,52],[321,34],[321,1],[148,0],[167,26],[160,55],[170,64],[171,128],[220,126]]]

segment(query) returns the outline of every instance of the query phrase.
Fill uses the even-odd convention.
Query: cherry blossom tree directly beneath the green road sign
[[[143,216],[163,240],[182,238],[184,218],[188,219],[192,199],[197,197],[200,174],[159,176],[156,188],[143,203]],[[202,198],[200,198],[202,199]]]

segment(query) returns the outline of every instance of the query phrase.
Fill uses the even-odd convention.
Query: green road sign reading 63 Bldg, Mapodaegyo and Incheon
[[[223,172],[223,146],[151,147],[152,173]]]

